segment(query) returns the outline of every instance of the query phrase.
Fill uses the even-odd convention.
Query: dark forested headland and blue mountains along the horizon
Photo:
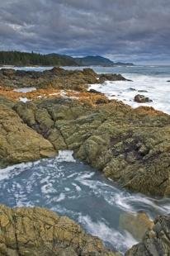
[[[106,66],[115,65],[133,65],[131,63],[116,63],[111,59],[102,56],[87,56],[82,58],[73,58],[68,55],[58,55],[55,53],[49,55],[36,54],[34,52],[20,51],[0,51],[0,65],[17,65],[17,66]]]

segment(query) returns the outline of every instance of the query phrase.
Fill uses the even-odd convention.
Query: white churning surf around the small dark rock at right
[[[106,81],[102,84],[92,84],[89,89],[96,89],[99,92],[105,93],[110,99],[117,99],[131,107],[149,106],[170,114],[170,83],[167,82],[168,77],[160,78],[146,75],[132,75],[130,73],[124,73],[123,75],[133,80],[133,82]],[[147,92],[139,92],[140,90]],[[143,94],[153,100],[153,102],[142,104],[135,102],[134,97],[136,94]]]

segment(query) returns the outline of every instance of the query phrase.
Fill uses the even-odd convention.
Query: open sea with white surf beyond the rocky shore
[[[44,71],[53,67],[14,67],[14,69]],[[64,69],[84,69],[87,67],[64,67]],[[129,81],[105,82],[92,84],[90,88],[103,92],[110,99],[116,99],[131,107],[149,106],[170,114],[170,66],[134,65],[115,67],[88,67],[97,73],[120,73]],[[142,92],[144,91],[144,92]],[[142,94],[153,102],[137,103],[134,97]]]

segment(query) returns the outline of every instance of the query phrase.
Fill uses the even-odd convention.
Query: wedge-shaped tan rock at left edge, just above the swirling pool
[[[55,154],[50,141],[23,124],[11,108],[0,105],[0,167]]]

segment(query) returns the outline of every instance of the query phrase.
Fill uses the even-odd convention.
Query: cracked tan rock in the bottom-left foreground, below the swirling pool
[[[0,255],[116,256],[66,216],[0,205]]]

